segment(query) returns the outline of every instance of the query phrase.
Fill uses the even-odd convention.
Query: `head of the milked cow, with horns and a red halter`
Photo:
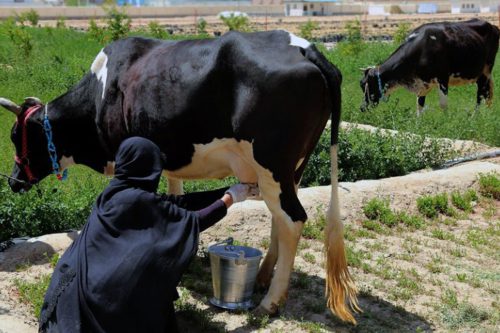
[[[9,185],[14,192],[27,191],[52,170],[42,124],[43,105],[35,97],[26,98],[21,105],[0,98],[0,105],[17,116],[11,131],[16,155]]]

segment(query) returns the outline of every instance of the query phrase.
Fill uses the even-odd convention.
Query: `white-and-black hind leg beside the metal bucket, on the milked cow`
[[[258,172],[258,175],[261,196],[273,215],[272,232],[277,241],[275,241],[274,252],[269,258],[266,257],[268,263],[263,267],[264,271],[261,276],[272,274],[274,260],[276,260],[276,269],[269,291],[257,311],[273,314],[287,297],[297,244],[307,215],[295,192],[293,172],[290,172],[286,180],[279,181],[276,181],[272,173],[264,168]]]

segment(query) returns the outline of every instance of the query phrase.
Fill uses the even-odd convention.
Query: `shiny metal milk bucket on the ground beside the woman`
[[[233,245],[228,238],[208,248],[214,297],[210,303],[224,309],[249,309],[262,252]]]

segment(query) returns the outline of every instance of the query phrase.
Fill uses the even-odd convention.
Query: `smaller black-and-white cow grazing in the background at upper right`
[[[474,82],[477,105],[485,99],[490,106],[499,37],[496,26],[478,19],[418,27],[380,66],[364,70],[361,110],[377,105],[399,86],[417,95],[417,114],[423,112],[425,96],[434,86],[439,86],[439,104],[446,108],[449,86]]]

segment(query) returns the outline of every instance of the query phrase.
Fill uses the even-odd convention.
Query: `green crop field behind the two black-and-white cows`
[[[15,33],[9,33],[9,29]],[[0,25],[0,97],[18,103],[26,96],[36,96],[47,102],[64,93],[88,71],[95,55],[104,46],[89,34],[71,29],[12,29],[8,22]],[[134,32],[134,35],[137,34],[143,32]],[[430,137],[471,139],[500,146],[500,102],[494,100],[492,108],[483,106],[474,112],[475,85],[451,88],[447,111],[439,109],[437,94],[433,92],[427,99],[427,111],[417,117],[415,96],[398,90],[388,103],[382,103],[370,112],[359,112],[362,100],[359,68],[380,63],[395,47],[391,43],[365,43],[359,53],[348,54],[345,48],[326,51],[320,45],[328,59],[343,73],[343,120]],[[500,65],[495,68],[494,77],[500,82]],[[495,91],[498,92],[498,89]],[[6,174],[10,173],[13,165],[14,147],[9,135],[14,121],[13,114],[0,112],[0,172]],[[433,146],[427,152],[425,161],[414,161],[412,158],[415,159],[420,155],[420,149],[424,149],[422,142],[415,144],[411,141],[413,139],[407,137],[386,141],[380,135],[369,136],[356,131],[341,135],[341,143],[344,142],[340,152],[343,180],[404,174],[438,165],[448,156],[448,152],[440,154],[437,146]],[[327,142],[325,138],[318,148],[320,151],[313,157],[309,174],[305,177],[308,179],[306,185],[329,183]],[[439,157],[433,159],[434,155]],[[366,164],[366,161],[373,163]],[[388,170],[388,165],[397,165],[397,170]],[[407,167],[409,165],[411,167]],[[361,168],[364,172],[359,172]],[[368,172],[378,169],[380,171]],[[64,184],[49,178],[42,182],[38,190],[24,195],[11,194],[6,181],[0,179],[0,229],[4,230],[3,233],[0,231],[0,240],[80,226],[91,203],[107,183],[104,176],[86,167],[71,168],[70,179]],[[232,181],[229,179],[224,184]],[[189,182],[186,188],[193,191],[221,185],[218,181]],[[53,189],[57,192],[54,193]],[[161,190],[164,189],[165,184],[162,184]]]

